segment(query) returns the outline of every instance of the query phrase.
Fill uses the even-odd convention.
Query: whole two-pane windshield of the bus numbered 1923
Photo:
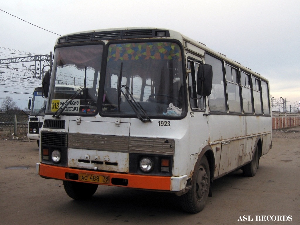
[[[55,79],[51,79],[48,112],[91,115],[100,109],[102,116],[148,120],[148,116],[184,115],[183,64],[178,44],[109,43],[105,81],[100,84],[103,98],[98,103],[103,47],[82,45],[55,49],[51,75]]]

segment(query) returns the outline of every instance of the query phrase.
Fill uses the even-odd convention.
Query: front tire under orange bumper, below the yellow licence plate
[[[64,190],[70,198],[75,200],[89,199],[95,194],[98,184],[63,181]]]

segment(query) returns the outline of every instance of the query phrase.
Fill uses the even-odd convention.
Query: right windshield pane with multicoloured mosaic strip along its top
[[[183,80],[176,43],[110,44],[101,113],[178,118],[184,114]]]

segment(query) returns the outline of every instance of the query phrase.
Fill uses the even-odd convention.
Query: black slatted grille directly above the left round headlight
[[[65,133],[41,132],[42,145],[67,147],[68,136]]]

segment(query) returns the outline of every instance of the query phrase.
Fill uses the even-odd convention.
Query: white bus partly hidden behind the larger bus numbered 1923
[[[28,122],[27,137],[29,140],[37,140],[40,146],[40,128],[44,122],[47,99],[42,97],[42,87],[37,87],[33,91],[33,97],[28,100],[28,108],[31,109]]]

